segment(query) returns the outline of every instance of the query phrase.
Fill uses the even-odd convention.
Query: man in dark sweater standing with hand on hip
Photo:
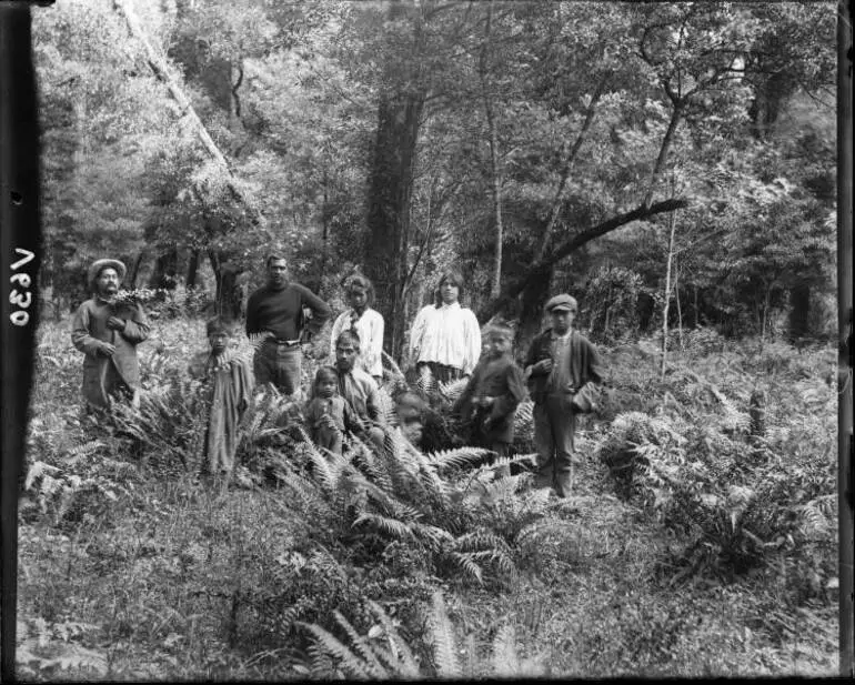
[[[291,395],[300,390],[303,350],[301,343],[321,330],[331,316],[330,306],[300,283],[289,282],[288,262],[279,254],[268,258],[268,283],[247,302],[247,335],[263,335],[255,351],[255,383],[272,383]],[[303,306],[312,318],[303,321]],[[305,335],[301,334],[305,329]]]

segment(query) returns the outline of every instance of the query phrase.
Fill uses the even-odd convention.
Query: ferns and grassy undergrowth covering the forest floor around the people
[[[163,323],[140,349],[140,410],[109,421],[79,410],[67,331],[40,331],[21,477],[20,677],[828,667],[834,636],[816,626],[834,604],[829,351],[737,346],[707,331],[686,336],[661,379],[652,342],[604,350],[610,377],[580,420],[579,488],[562,501],[526,472],[531,402],[514,455],[494,460],[450,414],[460,384],[411,379],[428,402],[414,445],[396,426],[392,396],[408,383],[393,364],[384,450],[351,436],[342,455],[322,451],[293,399],[259,391],[233,481],[200,479],[205,406],[185,364],[202,330]],[[750,416],[757,390],[768,397],[762,434]],[[514,475],[496,479],[507,465]],[[813,644],[798,625],[814,626]]]

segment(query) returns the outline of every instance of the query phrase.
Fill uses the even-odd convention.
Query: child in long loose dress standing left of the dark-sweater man
[[[231,474],[238,451],[238,424],[252,399],[249,363],[232,354],[231,326],[221,319],[205,324],[209,350],[190,362],[190,375],[202,380],[210,402],[202,470],[211,475]]]

